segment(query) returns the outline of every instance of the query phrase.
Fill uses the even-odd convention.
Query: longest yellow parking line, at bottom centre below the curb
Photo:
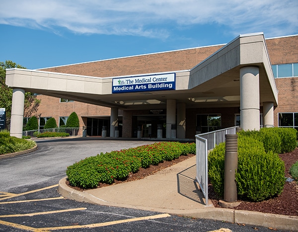
[[[116,225],[116,224],[121,224],[121,223],[137,222],[137,221],[166,218],[166,217],[171,217],[171,216],[169,214],[159,214],[159,215],[152,215],[152,216],[141,217],[141,218],[132,218],[132,219],[125,219],[125,220],[105,222],[105,223],[96,223],[96,224],[89,224],[89,225],[74,225],[74,226],[66,226],[66,227],[40,228],[40,230],[55,231],[55,230],[81,229],[81,228],[97,228],[97,227],[106,227],[106,226],[111,226],[111,225]]]

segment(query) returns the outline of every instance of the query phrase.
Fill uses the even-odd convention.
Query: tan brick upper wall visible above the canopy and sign
[[[85,75],[92,77],[117,77],[158,72],[188,70],[218,51],[222,46],[117,58],[42,69],[47,72]]]

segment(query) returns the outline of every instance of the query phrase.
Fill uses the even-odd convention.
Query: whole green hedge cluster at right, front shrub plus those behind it
[[[285,165],[277,155],[296,148],[293,128],[263,128],[238,133],[237,194],[243,199],[262,201],[280,194],[285,184]],[[224,196],[225,143],[208,156],[208,176],[219,197]]]

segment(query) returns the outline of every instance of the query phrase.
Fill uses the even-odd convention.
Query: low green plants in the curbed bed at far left
[[[8,131],[0,132],[0,155],[22,152],[33,148],[36,143],[33,140],[11,137]]]

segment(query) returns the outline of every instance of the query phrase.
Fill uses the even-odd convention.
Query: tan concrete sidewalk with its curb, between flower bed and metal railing
[[[211,201],[206,206],[195,178],[193,156],[141,180],[83,192],[67,186],[63,178],[59,192],[65,198],[92,204],[298,231],[298,217],[215,208]]]

